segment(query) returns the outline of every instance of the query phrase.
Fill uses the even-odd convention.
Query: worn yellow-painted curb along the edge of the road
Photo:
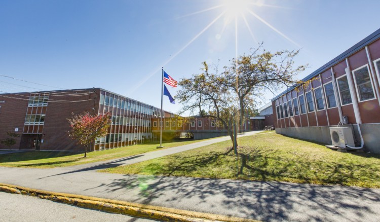
[[[102,210],[111,213],[120,213],[130,216],[150,218],[162,221],[257,221],[233,216],[200,213],[187,210],[178,210],[173,208],[130,203],[126,201],[116,201],[75,194],[42,191],[5,183],[0,183],[0,191],[12,194],[28,195],[41,199],[51,200],[54,202],[66,203],[74,206]]]

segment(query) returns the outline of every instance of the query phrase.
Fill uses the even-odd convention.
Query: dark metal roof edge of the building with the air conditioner
[[[327,68],[329,68],[329,67],[331,67],[333,65],[336,65],[337,63],[339,63],[343,59],[345,59],[345,58],[353,55],[354,53],[356,53],[359,50],[361,50],[363,47],[369,45],[370,43],[374,42],[375,40],[377,40],[379,38],[380,38],[380,28],[377,29],[376,31],[372,32],[370,35],[368,35],[366,38],[364,38],[363,40],[361,40],[360,42],[358,42],[357,44],[355,44],[354,46],[352,46],[348,50],[344,51],[343,53],[341,53],[340,55],[336,56],[335,58],[333,58],[332,60],[330,60],[326,64],[322,65],[321,67],[319,67],[314,72],[310,73],[308,76],[306,76],[305,78],[303,78],[302,81],[306,81],[306,80],[312,79],[313,77],[315,77],[318,74],[320,74],[323,71],[325,71]],[[275,98],[273,98],[272,101],[274,101],[274,100],[278,99],[279,97],[281,97],[282,95],[284,95],[284,94],[292,91],[294,89],[294,87],[295,86],[291,86],[287,90],[284,90],[283,92],[281,92],[280,94],[278,94]]]

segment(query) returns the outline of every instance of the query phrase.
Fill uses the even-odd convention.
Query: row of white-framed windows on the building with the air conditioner
[[[380,70],[380,59],[376,60],[375,62],[376,71]],[[368,64],[359,67],[352,71],[357,96],[359,99],[359,102],[367,101],[370,99],[375,99],[375,93],[374,93],[374,87],[373,87],[373,81],[369,72],[369,66]],[[349,82],[347,79],[347,75],[343,75],[341,77],[336,78],[336,84],[337,84],[337,90],[340,98],[340,104],[348,105],[352,103],[351,98],[351,91]],[[335,93],[334,88],[332,85],[332,82],[325,83],[323,85],[323,90],[326,98],[326,105],[327,108],[333,108],[336,107],[336,100],[335,100]],[[325,103],[323,100],[323,94],[321,87],[317,87],[313,89],[314,91],[314,98],[312,95],[312,91],[309,91],[305,93],[306,101],[303,98],[303,95],[298,96],[299,103],[297,101],[297,98],[294,98],[292,100],[289,100],[287,102],[284,102],[282,104],[279,104],[276,106],[276,112],[277,112],[277,119],[287,118],[288,116],[293,115],[299,115],[298,112],[298,105],[300,107],[300,113],[305,114],[306,108],[308,109],[308,112],[314,112],[314,102],[316,104],[317,110],[323,110],[325,109]],[[284,97],[285,98],[285,97]],[[305,104],[306,102],[306,104]],[[294,107],[294,114],[293,114],[293,107]]]

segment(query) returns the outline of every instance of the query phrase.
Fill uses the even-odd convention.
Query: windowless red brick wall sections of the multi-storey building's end
[[[48,106],[46,108],[45,123],[42,130],[42,139],[40,150],[67,150],[67,151],[82,151],[83,147],[75,144],[75,141],[68,137],[67,131],[70,129],[67,122],[67,118],[71,117],[71,113],[80,114],[82,112],[90,112],[91,114],[98,113],[99,104],[99,90],[88,89],[94,91],[90,95],[83,96],[57,96],[50,95],[48,100]],[[61,91],[61,92],[74,92]],[[80,92],[80,91],[79,91]],[[6,101],[0,103],[0,140],[7,138],[7,131],[15,131],[15,128],[19,128],[20,137],[17,137],[17,143],[10,148],[0,144],[0,149],[26,149],[25,144],[20,146],[21,133],[23,132],[25,115],[28,107],[28,99],[30,93],[15,94],[2,94],[0,101]],[[6,98],[4,96],[16,97]],[[18,99],[17,99],[18,98]],[[83,102],[68,102],[57,103],[53,100],[66,100],[66,101],[78,101],[88,100]],[[95,110],[92,108],[95,107]],[[41,107],[38,107],[41,108]],[[41,127],[41,126],[40,126]]]

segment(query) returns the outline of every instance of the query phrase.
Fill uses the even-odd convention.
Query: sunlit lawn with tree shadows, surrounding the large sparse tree
[[[191,176],[380,188],[380,156],[341,153],[276,133],[241,137],[239,158],[231,141],[219,142],[108,173]]]

